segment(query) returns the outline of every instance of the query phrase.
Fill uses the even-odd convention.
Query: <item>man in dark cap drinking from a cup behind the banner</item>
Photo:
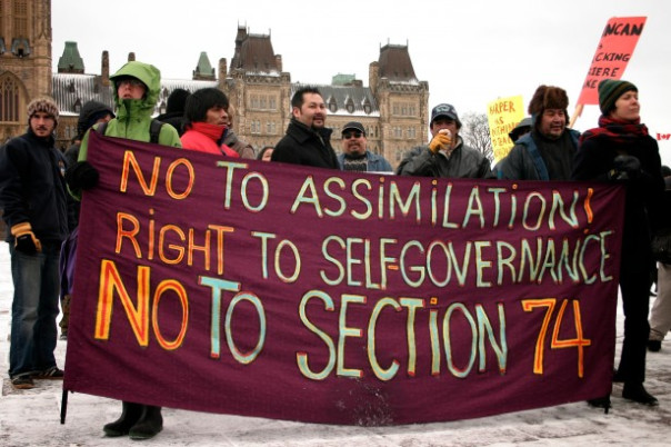
[[[410,151],[397,173],[401,176],[445,178],[493,178],[487,157],[463,143],[461,121],[453,106],[441,103],[431,111],[432,139]]]

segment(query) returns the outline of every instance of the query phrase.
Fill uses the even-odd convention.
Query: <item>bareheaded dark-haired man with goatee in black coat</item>
[[[272,161],[340,169],[331,147],[331,129],[324,127],[327,105],[319,89],[304,87],[291,98],[291,122],[278,142]]]

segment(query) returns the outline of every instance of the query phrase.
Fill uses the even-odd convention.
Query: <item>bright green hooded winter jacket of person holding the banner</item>
[[[147,95],[142,99],[119,99],[116,79],[123,76],[132,76],[144,82],[148,87]],[[151,126],[151,113],[159,99],[161,89],[161,72],[158,68],[148,63],[131,61],[126,63],[114,74],[110,76],[117,118],[112,119],[104,130],[108,137],[127,138],[129,140],[149,141],[149,128]],[[93,126],[96,129],[98,126]],[[89,131],[81,140],[79,149],[79,161],[84,161],[88,157]],[[159,135],[159,145],[173,146],[181,148],[177,130],[170,125],[161,127]]]

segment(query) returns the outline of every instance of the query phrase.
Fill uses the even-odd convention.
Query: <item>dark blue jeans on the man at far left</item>
[[[59,254],[56,245],[26,255],[9,244],[14,298],[11,307],[9,376],[41,371],[56,366],[59,299]]]

